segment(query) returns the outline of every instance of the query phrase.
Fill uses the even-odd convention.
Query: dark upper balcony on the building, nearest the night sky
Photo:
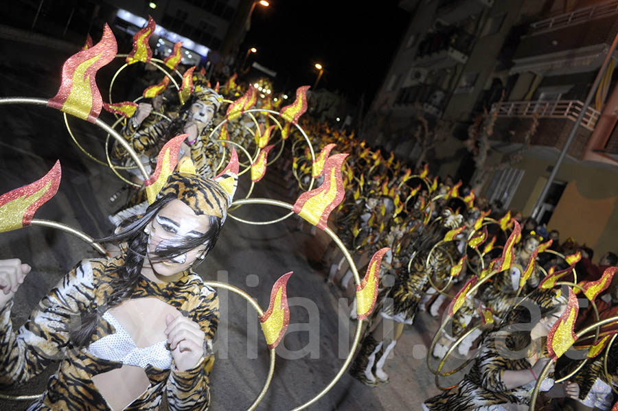
[[[426,34],[418,45],[414,64],[432,69],[465,64],[473,45],[474,36],[459,27],[446,27],[439,32]]]

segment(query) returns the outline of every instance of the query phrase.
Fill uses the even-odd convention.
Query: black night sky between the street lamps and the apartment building
[[[270,1],[270,0],[269,0]],[[313,86],[314,63],[324,67],[317,86],[340,91],[352,104],[365,91],[371,102],[394,57],[410,14],[398,1],[272,0],[256,5],[240,54],[277,72],[275,92]],[[373,6],[373,7],[370,7]]]

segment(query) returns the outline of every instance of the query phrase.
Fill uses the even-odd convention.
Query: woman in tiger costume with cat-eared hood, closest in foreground
[[[12,296],[30,267],[0,261],[0,388],[60,360],[29,410],[152,410],[164,391],[170,410],[206,410],[218,297],[192,268],[214,247],[235,182],[171,174],[144,215],[104,239],[123,252],[78,263],[19,330]]]

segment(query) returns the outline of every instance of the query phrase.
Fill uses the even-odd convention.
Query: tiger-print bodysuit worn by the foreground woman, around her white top
[[[41,373],[52,361],[61,360],[47,390],[29,410],[110,409],[92,377],[120,368],[122,362],[102,360],[87,347],[74,347],[69,331],[75,327],[80,312],[105,306],[111,280],[123,262],[122,256],[81,261],[38,303],[19,331],[14,331],[10,320],[12,302],[2,309],[0,388],[21,384]],[[125,410],[158,409],[163,390],[167,392],[170,410],[206,410],[210,403],[209,373],[214,363],[211,342],[218,325],[216,292],[204,285],[197,274],[187,271],[178,281],[165,284],[140,276],[132,298],[144,297],[159,298],[197,322],[206,333],[205,354],[197,366],[187,371],[176,370],[173,362],[169,369],[146,366],[144,371],[150,384]],[[100,317],[91,342],[113,333],[113,326]]]

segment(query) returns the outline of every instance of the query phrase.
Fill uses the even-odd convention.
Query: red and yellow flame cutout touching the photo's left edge
[[[0,196],[0,233],[30,225],[36,210],[58,191],[61,176],[60,161],[56,161],[43,178]]]

